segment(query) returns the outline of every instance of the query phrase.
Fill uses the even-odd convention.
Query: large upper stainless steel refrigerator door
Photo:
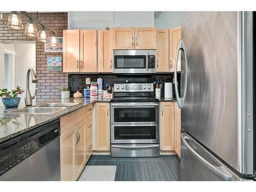
[[[185,16],[179,43],[181,52],[185,50],[179,54],[181,99],[177,100],[182,129],[238,172],[252,174],[252,155],[243,151],[248,147],[241,130],[245,88],[241,84],[239,14],[189,12]],[[251,141],[247,144],[252,147]],[[243,160],[249,161],[247,167]]]

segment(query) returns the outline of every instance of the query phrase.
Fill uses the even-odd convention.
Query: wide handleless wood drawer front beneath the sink
[[[70,114],[60,117],[60,135],[68,131],[71,127],[75,126],[81,120],[86,118],[87,108],[83,107]]]

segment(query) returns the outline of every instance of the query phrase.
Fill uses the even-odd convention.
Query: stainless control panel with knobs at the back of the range
[[[154,92],[153,83],[115,83],[114,92]]]

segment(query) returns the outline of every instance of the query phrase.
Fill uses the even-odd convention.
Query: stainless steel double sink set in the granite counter
[[[45,103],[38,106],[30,106],[23,109],[11,110],[6,113],[22,113],[22,114],[51,114],[75,106],[80,103]]]

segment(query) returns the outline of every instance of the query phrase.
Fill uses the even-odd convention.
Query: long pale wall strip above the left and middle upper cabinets
[[[154,11],[70,11],[68,29],[154,27]]]

